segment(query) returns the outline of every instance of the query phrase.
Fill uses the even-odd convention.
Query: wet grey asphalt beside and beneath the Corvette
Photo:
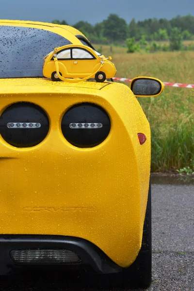
[[[152,185],[152,232],[153,282],[147,290],[194,291],[194,184]],[[71,273],[34,274],[7,278],[0,282],[0,291],[97,290],[82,287],[80,282],[81,278]]]

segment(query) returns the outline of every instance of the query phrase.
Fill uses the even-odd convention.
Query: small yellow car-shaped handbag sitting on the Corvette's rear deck
[[[103,82],[116,74],[111,60],[111,57],[105,58],[88,46],[66,45],[56,48],[45,57],[43,75],[53,81],[68,81],[64,78],[95,78],[97,82]]]

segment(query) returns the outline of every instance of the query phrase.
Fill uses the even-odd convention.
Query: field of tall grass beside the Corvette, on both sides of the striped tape
[[[166,82],[194,84],[194,51],[127,54],[125,48],[108,46],[117,77],[150,76]],[[129,85],[129,83],[126,83]],[[165,87],[158,97],[138,98],[151,127],[151,171],[194,169],[194,90]]]

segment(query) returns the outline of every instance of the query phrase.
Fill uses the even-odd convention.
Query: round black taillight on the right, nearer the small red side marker
[[[80,103],[64,114],[61,129],[65,139],[73,146],[94,147],[107,138],[111,122],[100,106]]]

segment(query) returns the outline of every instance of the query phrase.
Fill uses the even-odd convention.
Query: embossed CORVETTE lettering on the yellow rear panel
[[[95,207],[23,207],[23,211],[35,211],[35,212],[40,212],[40,211],[47,211],[47,212],[59,212],[59,211],[64,211],[64,212],[83,212],[83,211],[95,211]]]

